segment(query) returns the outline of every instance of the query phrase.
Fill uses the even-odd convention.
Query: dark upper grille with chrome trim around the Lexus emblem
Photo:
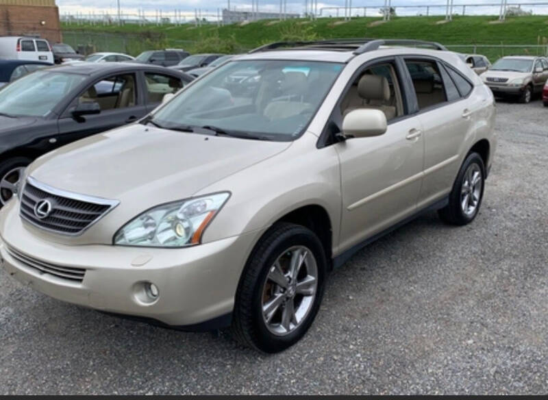
[[[32,177],[27,178],[20,200],[19,212],[23,219],[42,229],[66,235],[82,234],[119,203],[64,192],[42,184]],[[51,212],[40,218],[35,209],[42,200],[50,203]]]

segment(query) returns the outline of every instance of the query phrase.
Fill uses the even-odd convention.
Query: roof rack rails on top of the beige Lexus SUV
[[[426,42],[423,40],[408,39],[370,39],[370,38],[352,38],[352,39],[331,39],[331,40],[312,40],[297,42],[273,42],[263,45],[249,51],[249,53],[260,53],[280,49],[282,47],[291,47],[293,49],[345,49],[353,50],[354,54],[362,54],[367,51],[374,51],[381,46],[408,46],[408,47],[432,47],[436,50],[447,51],[447,48],[438,42]]]

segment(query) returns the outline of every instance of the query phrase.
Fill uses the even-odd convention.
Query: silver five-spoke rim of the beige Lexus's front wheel
[[[269,331],[284,336],[297,329],[312,309],[317,287],[312,251],[295,246],[279,255],[262,289],[262,317]]]

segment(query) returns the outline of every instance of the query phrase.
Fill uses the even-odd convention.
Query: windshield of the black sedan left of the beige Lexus
[[[0,90],[0,114],[47,116],[84,75],[37,71]]]

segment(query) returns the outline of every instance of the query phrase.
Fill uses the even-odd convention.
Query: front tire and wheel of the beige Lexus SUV
[[[310,229],[277,223],[251,253],[238,285],[232,334],[242,345],[277,353],[308,331],[319,310],[327,259]]]

